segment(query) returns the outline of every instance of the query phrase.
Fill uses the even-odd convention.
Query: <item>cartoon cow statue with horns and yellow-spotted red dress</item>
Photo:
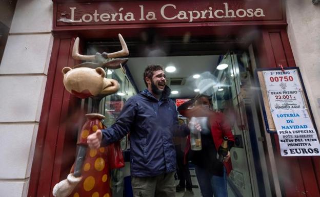
[[[122,50],[114,53],[96,53],[95,55],[81,55],[78,52],[79,38],[75,39],[72,57],[86,60],[74,68],[65,67],[62,70],[66,90],[78,98],[93,99],[93,113],[86,114],[87,121],[82,127],[77,141],[78,152],[76,160],[67,179],[57,183],[53,188],[55,197],[100,196],[111,197],[110,170],[123,167],[123,163],[114,163],[114,144],[98,149],[91,149],[87,145],[87,137],[97,129],[105,128],[101,120],[105,117],[98,114],[101,99],[114,94],[119,89],[119,83],[114,79],[105,78],[105,68],[123,69],[128,59],[117,57],[128,56],[129,51],[125,40],[118,34]],[[124,71],[124,70],[123,70]],[[122,157],[118,156],[118,157]]]

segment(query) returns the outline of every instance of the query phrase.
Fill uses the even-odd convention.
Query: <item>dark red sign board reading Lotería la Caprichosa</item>
[[[57,26],[69,26],[267,20],[283,20],[281,1],[58,3],[55,23]]]

